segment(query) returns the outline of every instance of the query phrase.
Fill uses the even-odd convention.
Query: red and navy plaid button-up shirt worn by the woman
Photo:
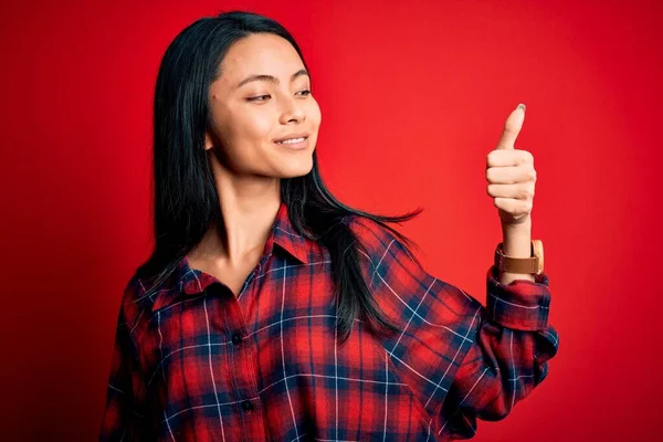
[[[379,224],[346,222],[364,276],[402,333],[355,322],[337,347],[329,254],[278,210],[235,297],[185,259],[145,296],[125,290],[99,441],[433,441],[472,438],[547,376],[558,348],[548,277],[505,286],[484,307],[419,269]]]

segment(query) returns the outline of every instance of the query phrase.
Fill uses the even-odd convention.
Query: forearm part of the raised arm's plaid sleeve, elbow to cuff
[[[442,407],[443,439],[469,439],[476,420],[505,418],[548,375],[559,336],[548,324],[550,290],[545,273],[534,282],[504,285],[498,270],[487,272],[486,308],[473,345],[456,371]]]

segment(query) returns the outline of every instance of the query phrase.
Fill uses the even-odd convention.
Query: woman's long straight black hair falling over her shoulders
[[[234,42],[264,32],[287,40],[308,70],[299,46],[283,25],[245,11],[197,20],[176,36],[161,60],[154,99],[155,249],[137,270],[138,275],[152,282],[148,294],[172,274],[210,225],[223,224],[204,150],[206,130],[211,126],[209,86],[220,75],[221,61]],[[389,229],[404,244],[413,244],[386,223],[408,221],[422,209],[379,215],[345,206],[325,186],[315,150],[311,172],[281,180],[281,199],[287,204],[294,229],[329,251],[340,344],[349,337],[357,318],[381,335],[398,332],[380,312],[364,280],[357,246],[366,249],[344,220],[366,217]]]

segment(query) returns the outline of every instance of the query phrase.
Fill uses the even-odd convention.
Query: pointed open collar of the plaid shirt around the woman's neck
[[[274,244],[287,252],[299,263],[309,263],[312,241],[295,231],[290,221],[285,202],[281,202],[276,219],[274,220],[274,224],[272,224],[272,230],[261,257],[261,264],[264,264],[272,255]],[[175,285],[167,288],[164,287],[158,292],[152,303],[152,312],[167,306],[181,293],[185,295],[194,295],[203,292],[210,284],[214,283],[217,278],[197,269],[191,269],[189,259],[185,256],[179,262],[170,281],[175,281]]]

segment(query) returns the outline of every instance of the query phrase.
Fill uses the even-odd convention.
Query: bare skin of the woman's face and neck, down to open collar
[[[304,176],[322,122],[308,75],[292,44],[274,34],[235,42],[210,85],[213,124],[206,151],[214,172],[223,227],[214,227],[189,253],[191,267],[214,275],[236,295],[262,256],[281,204],[281,179]],[[255,74],[272,75],[238,87]],[[254,98],[254,99],[251,99]],[[293,150],[275,139],[308,133],[307,146]]]

